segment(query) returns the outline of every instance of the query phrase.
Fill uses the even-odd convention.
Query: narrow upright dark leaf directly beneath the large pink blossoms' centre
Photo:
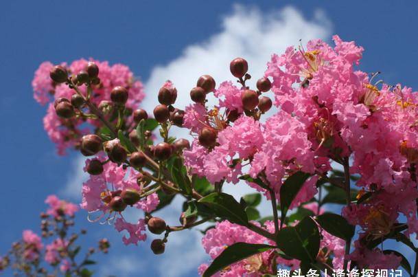
[[[310,177],[310,174],[298,171],[293,175],[290,175],[280,188],[280,210],[281,210],[281,225],[283,225],[286,219],[286,213],[289,210],[290,204],[294,197],[297,196],[299,190],[301,190],[306,179]]]

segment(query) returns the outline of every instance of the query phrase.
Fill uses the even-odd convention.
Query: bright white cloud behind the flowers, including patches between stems
[[[213,76],[218,85],[224,80],[233,80],[229,72],[229,62],[237,56],[248,60],[248,73],[253,76],[249,85],[254,87],[257,78],[264,75],[271,54],[283,52],[288,45],[297,45],[299,39],[303,42],[312,38],[327,39],[331,29],[327,16],[321,10],[314,12],[312,19],[305,19],[301,12],[292,7],[261,12],[257,8],[235,5],[231,14],[222,17],[222,30],[219,33],[213,34],[207,41],[189,45],[178,58],[152,69],[150,78],[146,82],[148,97],[143,107],[152,111],[152,107],[157,104],[156,91],[159,91],[165,80],[170,79],[178,90],[176,107],[183,109],[190,102],[190,89],[202,74]],[[186,135],[184,130],[174,131],[175,135]],[[81,169],[84,159],[77,159],[75,164],[65,189],[65,194],[69,197],[80,194],[84,180]],[[227,185],[226,191],[237,199],[246,193],[254,192],[252,188],[243,184]],[[169,223],[177,224],[181,203],[182,199],[177,197],[172,207],[161,211],[160,216]],[[270,204],[262,203],[260,210],[262,215],[270,214]],[[196,275],[198,265],[209,258],[202,250],[200,239],[201,236],[196,230],[170,234],[166,252],[159,257],[157,273],[161,276],[173,277],[185,276],[191,272],[193,276]],[[134,261],[134,258],[131,258]],[[152,264],[155,257],[141,258],[142,261]],[[132,262],[130,265],[137,266],[136,263]],[[121,267],[121,274],[128,275],[130,272],[131,267]]]

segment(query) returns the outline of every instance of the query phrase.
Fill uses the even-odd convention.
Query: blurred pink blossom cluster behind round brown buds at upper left
[[[110,101],[111,90],[114,87],[122,86],[126,87],[129,93],[126,107],[129,109],[137,109],[139,103],[145,96],[143,85],[139,80],[135,79],[132,71],[126,65],[109,65],[107,61],[101,62],[93,59],[80,59],[74,60],[70,65],[62,63],[62,66],[66,67],[70,74],[78,74],[79,71],[86,68],[89,61],[93,61],[100,68],[98,76],[100,78],[100,84],[94,87],[91,102],[99,106],[100,103],[104,104],[106,101]],[[78,144],[78,140],[82,135],[91,133],[91,129],[97,127],[97,121],[88,120],[93,126],[86,126],[86,124],[83,124],[84,120],[80,118],[62,119],[56,115],[54,100],[58,98],[71,99],[75,91],[65,84],[56,84],[51,80],[49,70],[53,66],[49,62],[42,63],[35,72],[32,87],[34,89],[34,98],[37,102],[42,105],[50,102],[47,108],[47,114],[43,119],[43,124],[49,138],[56,144],[58,154],[64,155],[67,148]],[[85,92],[86,86],[82,85],[79,89]]]

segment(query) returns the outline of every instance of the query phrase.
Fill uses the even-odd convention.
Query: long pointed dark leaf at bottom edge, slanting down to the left
[[[248,258],[255,254],[266,252],[272,248],[274,248],[272,245],[266,244],[235,243],[227,247],[227,249],[213,260],[202,277],[212,276],[233,263],[244,260],[244,258]]]

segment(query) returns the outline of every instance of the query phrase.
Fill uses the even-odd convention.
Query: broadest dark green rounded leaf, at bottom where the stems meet
[[[277,235],[277,247],[300,261],[315,260],[319,241],[318,225],[310,217],[305,217],[296,226],[281,229]]]

